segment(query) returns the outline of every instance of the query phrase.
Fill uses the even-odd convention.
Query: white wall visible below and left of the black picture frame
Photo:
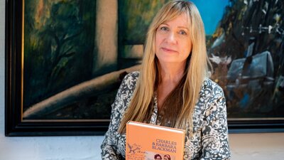
[[[0,0],[0,160],[101,159],[103,137],[5,137],[5,1]],[[233,160],[284,159],[284,133],[230,134]]]

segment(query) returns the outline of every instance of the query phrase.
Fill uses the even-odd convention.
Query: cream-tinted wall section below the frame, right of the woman
[[[229,134],[232,160],[284,159],[284,133]]]

